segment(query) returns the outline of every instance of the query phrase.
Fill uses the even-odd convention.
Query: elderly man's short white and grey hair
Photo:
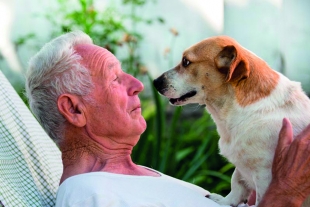
[[[85,96],[94,87],[89,70],[80,64],[82,57],[74,49],[78,44],[93,44],[93,41],[81,31],[53,39],[30,59],[26,74],[30,109],[58,146],[66,122],[57,108],[59,95]]]

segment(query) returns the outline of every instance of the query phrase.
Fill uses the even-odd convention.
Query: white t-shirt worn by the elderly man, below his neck
[[[208,191],[160,172],[160,177],[91,172],[66,179],[56,207],[219,207]]]

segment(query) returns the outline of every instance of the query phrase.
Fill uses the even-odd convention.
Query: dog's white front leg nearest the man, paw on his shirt
[[[237,206],[238,204],[245,202],[249,195],[250,190],[247,188],[247,184],[236,168],[231,179],[230,193],[225,198],[215,193],[211,193],[208,197],[221,205]]]

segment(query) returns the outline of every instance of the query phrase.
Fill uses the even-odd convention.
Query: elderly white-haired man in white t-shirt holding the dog
[[[56,206],[219,206],[205,197],[208,191],[132,162],[132,149],[146,129],[142,90],[113,54],[83,32],[52,40],[31,59],[29,104],[62,152]],[[304,176],[310,171],[290,169],[292,162],[310,163],[310,156],[296,150],[309,143],[310,127],[290,145],[290,123],[285,119],[283,125],[274,179],[260,206],[300,206],[310,193]],[[293,155],[301,156],[288,161]]]

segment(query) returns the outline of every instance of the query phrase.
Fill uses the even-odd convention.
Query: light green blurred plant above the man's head
[[[53,25],[52,37],[72,30],[82,30],[92,37],[95,44],[105,47],[115,55],[118,55],[120,50],[126,52],[127,55],[121,59],[126,72],[137,76],[143,71],[141,57],[137,52],[142,34],[137,32],[136,27],[139,24],[163,23],[160,17],[147,19],[136,14],[136,9],[146,4],[145,0],[122,0],[125,12],[113,5],[100,11],[94,0],[57,1],[57,18],[55,12],[46,15]]]

